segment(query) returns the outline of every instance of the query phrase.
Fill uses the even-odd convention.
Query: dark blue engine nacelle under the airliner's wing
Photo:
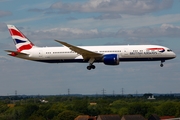
[[[105,65],[119,65],[119,55],[106,54],[103,56],[103,62]]]

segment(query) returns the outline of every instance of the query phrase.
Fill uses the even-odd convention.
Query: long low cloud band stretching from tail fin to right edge
[[[159,27],[140,27],[136,29],[120,29],[116,32],[99,31],[97,29],[84,30],[79,28],[51,28],[46,30],[28,31],[27,36],[33,39],[94,39],[94,38],[124,38],[126,40],[144,41],[149,38],[179,38],[180,26],[162,24]]]

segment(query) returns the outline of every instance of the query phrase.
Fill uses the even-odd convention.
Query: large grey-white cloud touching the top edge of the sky
[[[89,0],[78,2],[57,2],[50,6],[59,12],[100,12],[143,15],[172,7],[173,0]]]

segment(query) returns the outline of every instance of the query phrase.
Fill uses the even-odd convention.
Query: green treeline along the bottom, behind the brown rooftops
[[[51,96],[45,100],[48,102],[42,103],[40,98],[0,100],[0,120],[73,120],[78,115],[104,114],[141,114],[145,118],[151,114],[180,116],[178,98],[147,100],[126,97]]]

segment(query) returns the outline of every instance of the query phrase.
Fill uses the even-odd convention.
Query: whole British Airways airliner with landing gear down
[[[14,25],[7,25],[16,46],[16,51],[5,50],[8,55],[45,63],[89,63],[88,70],[95,69],[94,63],[119,65],[128,61],[161,61],[176,57],[169,48],[160,45],[110,45],[75,46],[55,40],[62,47],[37,47]]]

